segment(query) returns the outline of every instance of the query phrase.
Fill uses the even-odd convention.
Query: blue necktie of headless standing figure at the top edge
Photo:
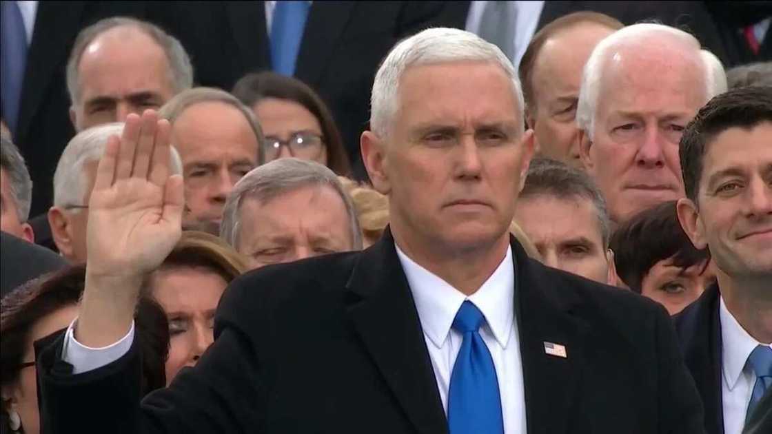
[[[271,64],[276,73],[293,76],[309,2],[276,2],[271,23]]]

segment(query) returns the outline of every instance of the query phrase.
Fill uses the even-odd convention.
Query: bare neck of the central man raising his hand
[[[448,246],[429,246],[428,243],[407,239],[392,233],[399,249],[418,265],[450,283],[456,290],[472,295],[482,287],[506,256],[509,236],[493,243],[453,249]]]

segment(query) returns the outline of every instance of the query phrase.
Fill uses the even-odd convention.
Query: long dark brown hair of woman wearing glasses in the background
[[[322,127],[324,144],[327,147],[327,167],[336,175],[351,175],[351,164],[333,114],[319,94],[306,83],[293,77],[263,71],[243,76],[235,83],[231,93],[250,108],[265,98],[290,100],[306,107]]]

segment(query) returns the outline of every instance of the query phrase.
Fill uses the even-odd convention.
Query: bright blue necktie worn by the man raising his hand
[[[478,331],[483,320],[482,312],[470,301],[462,303],[453,320],[453,328],[464,335],[464,340],[450,376],[450,434],[504,432],[496,367]]]

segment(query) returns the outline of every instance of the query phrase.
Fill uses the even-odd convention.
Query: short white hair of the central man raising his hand
[[[399,83],[411,66],[453,62],[486,62],[500,66],[512,80],[517,110],[523,112],[523,90],[517,72],[499,47],[474,33],[459,29],[426,29],[403,39],[388,53],[375,74],[371,97],[370,125],[375,134],[385,137],[399,107]]]

